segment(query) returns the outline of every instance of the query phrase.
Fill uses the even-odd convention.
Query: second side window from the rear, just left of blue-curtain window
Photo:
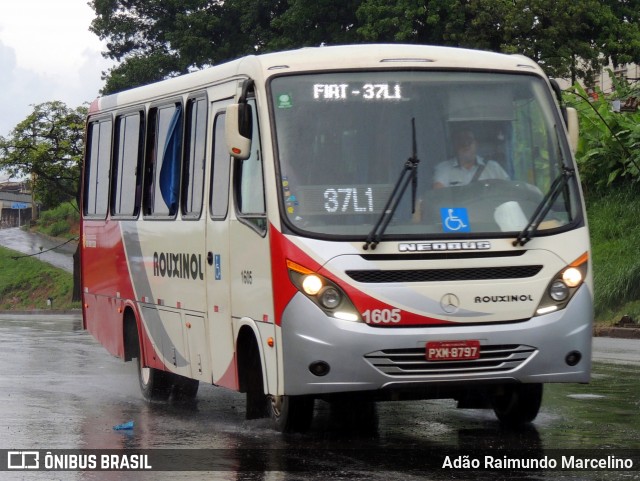
[[[111,181],[111,214],[115,216],[135,217],[140,208],[142,115],[142,112],[134,112],[116,119]]]

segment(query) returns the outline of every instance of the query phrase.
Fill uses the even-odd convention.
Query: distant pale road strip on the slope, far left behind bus
[[[69,242],[59,246],[60,243],[61,241],[57,239],[25,232],[18,227],[0,229],[0,246],[25,255],[36,254],[34,257],[38,260],[67,272],[73,272],[73,253],[76,249],[76,243]]]

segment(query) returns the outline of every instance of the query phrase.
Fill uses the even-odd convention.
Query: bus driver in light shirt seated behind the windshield
[[[495,160],[484,160],[477,154],[476,139],[470,130],[460,130],[453,135],[456,156],[436,165],[433,187],[466,185],[480,179],[509,179]]]

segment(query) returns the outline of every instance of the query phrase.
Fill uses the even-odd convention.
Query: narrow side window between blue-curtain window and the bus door
[[[189,99],[185,129],[182,214],[185,218],[198,218],[202,212],[207,135],[207,101],[204,97]]]

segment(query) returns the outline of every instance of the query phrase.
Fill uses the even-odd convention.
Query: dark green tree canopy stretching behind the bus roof
[[[405,42],[520,53],[591,80],[640,62],[640,0],[93,0],[113,93],[254,53]]]

